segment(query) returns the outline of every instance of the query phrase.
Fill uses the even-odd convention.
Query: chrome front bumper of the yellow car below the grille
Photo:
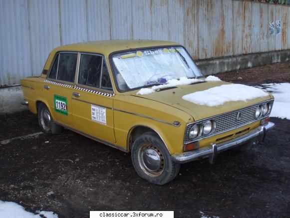
[[[257,138],[259,142],[263,141],[266,137],[267,131],[272,129],[275,126],[275,123],[268,122],[264,125],[260,125],[259,127],[249,131],[248,133],[230,139],[228,141],[224,141],[222,143],[212,144],[210,146],[201,147],[192,151],[187,151],[183,153],[177,153],[171,156],[172,160],[175,162],[185,163],[189,161],[193,161],[196,159],[209,157],[209,161],[213,163],[217,157],[219,152],[230,149],[232,147],[239,146],[252,138]]]

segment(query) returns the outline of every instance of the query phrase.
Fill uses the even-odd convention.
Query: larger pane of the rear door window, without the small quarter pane
[[[74,82],[77,53],[60,53],[56,79]]]

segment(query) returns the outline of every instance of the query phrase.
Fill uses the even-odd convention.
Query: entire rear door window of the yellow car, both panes
[[[77,53],[59,53],[52,65],[48,78],[74,82]]]

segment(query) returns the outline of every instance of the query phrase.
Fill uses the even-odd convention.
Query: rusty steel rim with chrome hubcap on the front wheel
[[[138,163],[149,176],[159,176],[164,170],[164,157],[152,143],[144,143],[138,150]]]

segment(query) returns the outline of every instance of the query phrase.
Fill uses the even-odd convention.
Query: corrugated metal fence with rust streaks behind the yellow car
[[[0,85],[38,75],[50,50],[162,39],[195,59],[290,48],[290,7],[242,0],[0,0]]]

